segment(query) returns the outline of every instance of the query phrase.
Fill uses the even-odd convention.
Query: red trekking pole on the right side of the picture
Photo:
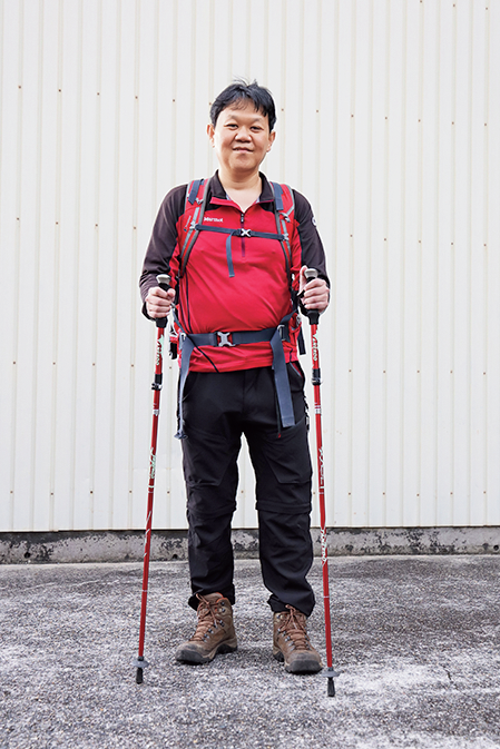
[[[305,272],[307,280],[317,278],[317,270],[315,268],[307,268]],[[323,570],[323,603],[325,611],[325,639],[326,639],[326,670],[322,671],[322,676],[327,677],[327,694],[335,697],[334,677],[337,677],[333,669],[332,654],[332,624],[330,617],[330,582],[329,582],[329,551],[326,545],[326,512],[325,512],[325,484],[324,484],[324,459],[323,459],[323,440],[321,425],[321,369],[320,369],[320,351],[317,347],[317,325],[320,322],[320,313],[315,309],[307,311],[307,317],[311,325],[311,354],[313,359],[313,377],[312,384],[314,386],[314,412],[316,415],[316,447],[317,447],[317,494],[320,499],[320,525],[321,525],[321,562]]]

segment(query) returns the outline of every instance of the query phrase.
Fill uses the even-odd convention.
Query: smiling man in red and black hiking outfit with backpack
[[[320,671],[322,663],[306,628],[314,607],[306,580],[312,467],[296,299],[305,311],[323,312],[329,286],[310,204],[259,171],[275,121],[273,98],[256,81],[235,82],[216,98],[207,134],[218,171],[166,196],[140,290],[149,318],[166,317],[176,300],[182,347],[177,436],[187,489],[189,604],[198,623],[176,659],[206,663],[237,648],[231,522],[244,434],[256,475],[273,654],[301,673]],[[307,267],[318,272],[308,283]],[[157,284],[160,273],[175,279],[168,290]]]

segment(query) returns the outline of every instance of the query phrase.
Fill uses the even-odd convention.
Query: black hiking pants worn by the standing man
[[[188,374],[183,440],[187,489],[189,572],[196,593],[219,592],[235,602],[231,523],[236,509],[242,434],[256,476],[259,559],[273,611],[293,605],[307,617],[314,593],[306,580],[313,562],[310,533],[311,456],[304,381],[287,365],[295,426],[278,428],[271,367]]]

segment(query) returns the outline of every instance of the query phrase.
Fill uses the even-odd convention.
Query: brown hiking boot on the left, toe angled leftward
[[[232,653],[238,647],[229,601],[220,593],[196,595],[198,625],[192,639],[183,642],[175,654],[183,663],[209,663],[217,653]]]

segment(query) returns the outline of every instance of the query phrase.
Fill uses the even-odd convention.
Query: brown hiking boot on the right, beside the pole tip
[[[273,656],[285,662],[288,673],[317,673],[323,668],[320,653],[311,644],[307,618],[292,605],[274,614]]]

